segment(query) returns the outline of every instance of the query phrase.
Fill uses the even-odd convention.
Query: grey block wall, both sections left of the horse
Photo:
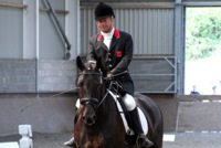
[[[0,93],[61,92],[75,80],[74,61],[0,60]]]

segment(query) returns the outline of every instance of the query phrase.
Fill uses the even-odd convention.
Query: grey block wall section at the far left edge
[[[0,60],[0,93],[35,92],[35,60]]]

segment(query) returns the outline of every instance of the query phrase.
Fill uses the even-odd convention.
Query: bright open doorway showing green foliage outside
[[[221,94],[221,8],[186,8],[185,94]]]

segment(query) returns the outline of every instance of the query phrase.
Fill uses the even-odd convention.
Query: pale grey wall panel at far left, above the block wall
[[[21,4],[22,0],[14,3]],[[6,1],[0,1],[6,2]],[[23,18],[22,9],[0,7],[0,57],[22,57],[22,32]]]

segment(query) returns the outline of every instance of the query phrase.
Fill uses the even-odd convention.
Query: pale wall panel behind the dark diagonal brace
[[[50,3],[54,10],[65,10],[65,0],[50,0]],[[44,7],[44,4],[40,1],[40,8],[42,7]],[[56,14],[56,17],[62,29],[64,30],[65,14]],[[60,32],[57,31],[57,27],[53,22],[54,20],[50,17],[49,12],[40,12],[40,59],[61,60],[64,56],[65,45]]]

